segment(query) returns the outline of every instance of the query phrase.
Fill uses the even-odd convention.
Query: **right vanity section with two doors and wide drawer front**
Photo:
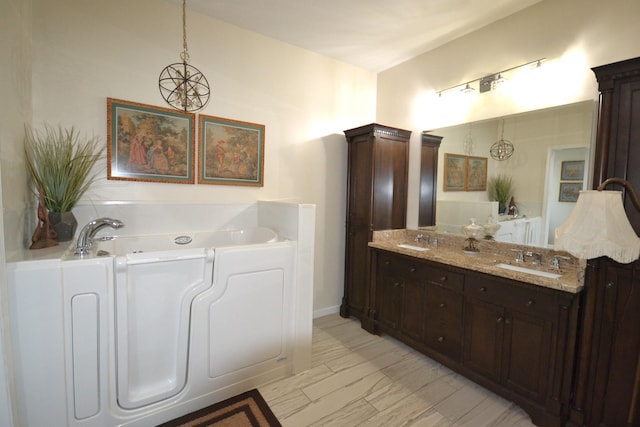
[[[564,402],[566,413],[573,355],[567,338],[575,340],[578,307],[574,300],[574,294],[470,273],[462,366],[496,381],[511,397],[520,396],[558,417]]]

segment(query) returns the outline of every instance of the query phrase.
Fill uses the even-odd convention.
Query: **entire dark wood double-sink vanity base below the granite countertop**
[[[522,407],[568,417],[578,295],[373,250],[376,333],[389,334]]]

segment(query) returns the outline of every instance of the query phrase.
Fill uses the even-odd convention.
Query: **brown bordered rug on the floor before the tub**
[[[281,427],[257,389],[184,415],[158,427]]]

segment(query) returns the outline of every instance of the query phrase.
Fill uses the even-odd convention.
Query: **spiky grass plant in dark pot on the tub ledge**
[[[98,176],[93,167],[102,158],[100,140],[81,138],[73,127],[45,125],[40,131],[27,127],[25,133],[24,152],[35,192],[44,202],[57,240],[71,240],[78,225],[71,210]]]

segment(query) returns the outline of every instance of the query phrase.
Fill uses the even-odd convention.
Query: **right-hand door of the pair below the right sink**
[[[529,399],[544,403],[553,328],[542,317],[508,311],[505,319],[502,384]]]

